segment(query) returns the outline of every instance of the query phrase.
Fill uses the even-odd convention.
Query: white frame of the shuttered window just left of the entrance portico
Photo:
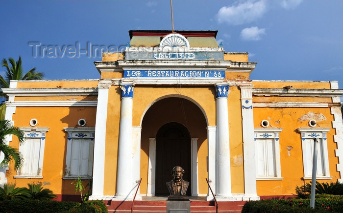
[[[64,128],[67,132],[67,152],[66,152],[66,166],[63,179],[75,179],[81,177],[82,179],[92,179],[93,178],[93,159],[94,159],[94,137],[95,137],[95,128]],[[89,139],[89,153],[88,153],[88,174],[80,175],[80,170],[77,175],[70,175],[71,170],[71,160],[72,160],[72,144],[73,138],[77,139]]]

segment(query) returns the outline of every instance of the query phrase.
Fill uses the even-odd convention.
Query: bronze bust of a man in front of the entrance
[[[172,176],[174,179],[167,182],[167,187],[171,195],[186,195],[189,182],[182,179],[185,170],[180,166],[175,166],[172,169]]]

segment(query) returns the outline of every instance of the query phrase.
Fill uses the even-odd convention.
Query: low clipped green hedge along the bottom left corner
[[[107,213],[106,205],[100,200],[60,202],[53,200],[5,200],[0,201],[1,213]]]

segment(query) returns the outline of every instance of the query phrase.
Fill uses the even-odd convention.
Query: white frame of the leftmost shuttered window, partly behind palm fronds
[[[23,170],[25,168],[25,165],[24,165],[20,170],[17,170],[17,175],[13,177],[14,178],[39,178],[41,179],[43,178],[44,149],[45,149],[45,142],[46,142],[45,139],[46,139],[46,133],[49,131],[49,128],[47,127],[21,127],[19,129],[21,129],[24,132],[25,142],[24,144],[19,145],[19,151],[22,153],[24,159],[25,159],[25,156],[23,154],[24,153],[23,149],[25,147],[25,144],[27,145],[27,139],[40,138],[39,161],[38,161],[37,174],[33,174],[33,173],[23,174]],[[33,161],[33,160],[30,158],[30,161]]]

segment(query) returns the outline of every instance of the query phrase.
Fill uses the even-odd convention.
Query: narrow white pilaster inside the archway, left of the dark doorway
[[[147,196],[155,196],[156,138],[149,138],[149,161],[147,168]]]

